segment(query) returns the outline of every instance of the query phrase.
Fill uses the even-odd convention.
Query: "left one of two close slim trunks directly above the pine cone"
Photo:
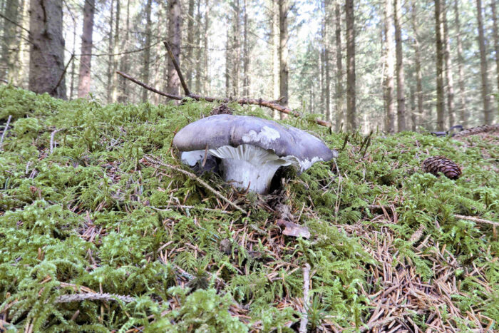
[[[480,0],[478,0],[480,1]],[[440,0],[435,0],[437,130],[443,130],[443,46]]]

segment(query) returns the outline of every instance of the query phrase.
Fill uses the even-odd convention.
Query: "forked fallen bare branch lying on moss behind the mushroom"
[[[120,74],[120,76],[123,76],[123,78],[126,78],[126,79],[132,81],[133,83],[137,83],[139,86],[142,86],[143,88],[146,88],[149,91],[153,91],[154,93],[158,93],[161,96],[165,96],[165,97],[175,99],[178,101],[182,101],[185,98],[192,98],[195,101],[207,101],[207,102],[218,102],[218,103],[235,102],[235,103],[238,103],[242,106],[244,106],[244,105],[253,105],[253,106],[260,106],[260,107],[264,106],[265,108],[270,108],[272,110],[279,111],[279,112],[285,113],[287,115],[292,115],[295,117],[302,116],[302,114],[299,113],[298,111],[294,111],[291,108],[287,108],[286,106],[281,106],[281,105],[277,104],[276,103],[277,101],[264,101],[262,98],[258,98],[258,99],[257,98],[217,98],[217,97],[201,96],[201,95],[198,95],[196,93],[191,93],[189,88],[187,87],[187,83],[185,82],[185,80],[182,76],[182,72],[180,71],[180,66],[178,64],[178,61],[175,58],[175,56],[173,55],[173,52],[171,51],[170,44],[167,41],[165,41],[164,43],[165,43],[165,47],[168,50],[168,54],[173,62],[173,66],[175,66],[175,70],[178,73],[178,77],[180,78],[180,83],[182,83],[182,88],[184,90],[185,97],[176,96],[176,95],[172,95],[170,93],[165,93],[163,91],[159,91],[158,89],[155,89],[151,86],[148,86],[147,84],[140,82],[136,78],[133,78],[132,76],[129,76],[128,74],[123,73],[121,71],[116,71],[116,73]],[[315,119],[314,121],[319,125],[331,127],[331,123],[329,123],[329,121],[323,121],[321,119]]]

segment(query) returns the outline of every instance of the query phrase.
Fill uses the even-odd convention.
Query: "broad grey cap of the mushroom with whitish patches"
[[[328,161],[338,156],[336,150],[329,149],[319,138],[304,130],[251,116],[202,118],[182,128],[173,138],[173,145],[180,151],[244,144],[272,150],[279,157],[291,155],[300,161]]]

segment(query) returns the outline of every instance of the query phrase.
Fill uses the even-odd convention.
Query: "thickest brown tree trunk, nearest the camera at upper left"
[[[29,90],[66,99],[62,0],[31,0]]]

